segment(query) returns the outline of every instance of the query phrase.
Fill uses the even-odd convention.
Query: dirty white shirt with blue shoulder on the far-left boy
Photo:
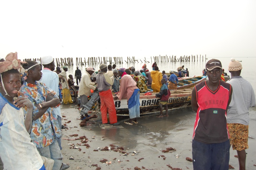
[[[0,93],[0,157],[4,169],[39,170],[43,160],[25,128],[24,113]]]

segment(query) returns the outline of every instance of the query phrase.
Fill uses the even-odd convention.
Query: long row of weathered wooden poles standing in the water
[[[99,58],[99,60],[98,60]],[[87,65],[97,65],[97,64],[109,64],[112,65],[112,64],[123,64],[123,57],[113,57],[113,62],[112,62],[112,57],[88,57],[87,58],[87,61],[86,59],[84,58],[84,60],[82,59],[82,57],[78,58],[76,57],[76,66],[86,66]],[[189,62],[190,61],[190,58],[191,58],[191,61],[194,62],[195,61],[198,61],[198,55],[191,55],[190,56],[180,56],[179,58],[177,58],[176,56],[153,56],[153,59],[154,61],[156,61],[157,63],[163,63],[163,62]],[[151,59],[151,63],[153,62],[152,60],[152,57],[150,57]],[[205,55],[205,60],[206,60],[206,55]],[[24,59],[23,61],[26,61],[26,60],[33,60],[33,61],[40,61],[41,62],[41,58],[32,58],[32,59]],[[74,63],[73,63],[73,58],[55,58],[56,60],[56,65],[57,66],[73,66]],[[124,60],[127,64],[130,64],[130,63],[135,63],[136,61],[139,63],[138,60],[135,59],[135,57],[127,57],[127,61]],[[143,59],[143,61],[140,59],[141,63],[143,63],[143,61],[145,63],[149,63],[149,61],[147,61],[146,57]],[[201,55],[199,56],[199,61],[201,61]],[[202,55],[202,61],[204,61],[204,55]]]

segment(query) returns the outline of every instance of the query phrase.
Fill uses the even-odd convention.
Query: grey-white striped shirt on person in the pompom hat
[[[249,107],[255,106],[252,85],[241,76],[231,77],[227,82],[233,88],[232,99],[228,106],[227,123],[249,125]]]

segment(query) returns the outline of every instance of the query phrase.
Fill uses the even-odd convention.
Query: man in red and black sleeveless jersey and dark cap
[[[208,79],[192,90],[191,105],[196,112],[192,155],[194,169],[228,169],[229,134],[227,109],[232,87],[220,81],[221,62],[211,59],[206,63]]]

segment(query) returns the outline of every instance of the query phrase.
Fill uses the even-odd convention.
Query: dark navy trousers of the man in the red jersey
[[[192,141],[193,167],[195,170],[228,170],[229,139],[222,143],[205,144]]]

